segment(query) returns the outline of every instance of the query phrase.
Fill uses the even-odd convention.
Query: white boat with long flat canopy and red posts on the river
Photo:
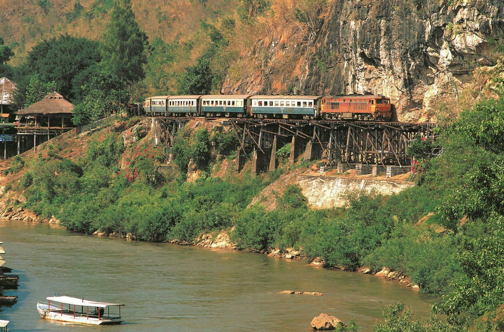
[[[50,296],[46,300],[37,303],[38,313],[45,319],[94,325],[124,322],[121,318],[122,303],[96,302],[70,296]]]

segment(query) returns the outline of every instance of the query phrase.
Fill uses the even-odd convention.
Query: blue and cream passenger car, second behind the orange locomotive
[[[248,95],[204,95],[201,114],[206,117],[244,117],[248,115]]]

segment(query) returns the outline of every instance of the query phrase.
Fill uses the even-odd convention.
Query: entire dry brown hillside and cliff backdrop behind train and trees
[[[99,39],[112,3],[3,2],[0,36],[19,63],[42,38]],[[504,50],[502,1],[272,0],[251,25],[239,18],[240,3],[133,0],[142,29],[166,53],[151,59],[148,72],[156,75],[141,91],[176,91],[176,77],[211,44],[212,24],[228,41],[213,63],[224,74],[216,93],[377,93],[392,98],[399,120],[427,120],[440,103],[477,98],[481,68]],[[229,19],[232,29],[222,24]]]

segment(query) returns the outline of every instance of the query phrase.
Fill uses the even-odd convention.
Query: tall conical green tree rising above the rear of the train
[[[103,34],[102,64],[105,70],[130,85],[130,102],[133,101],[133,84],[145,77],[144,46],[144,34],[135,21],[130,0],[116,0]]]

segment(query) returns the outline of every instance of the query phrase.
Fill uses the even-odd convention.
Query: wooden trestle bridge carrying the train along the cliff
[[[244,118],[152,118],[157,126],[156,141],[167,146],[173,136],[190,120],[223,121],[237,135],[240,147],[236,169],[242,168],[245,155],[253,153],[253,173],[277,167],[276,151],[291,143],[289,163],[301,156],[304,160],[322,159],[340,172],[356,169],[371,173],[385,172],[387,167],[409,171],[412,158],[406,153],[409,143],[418,135],[432,138],[435,124],[371,121],[281,120]]]

